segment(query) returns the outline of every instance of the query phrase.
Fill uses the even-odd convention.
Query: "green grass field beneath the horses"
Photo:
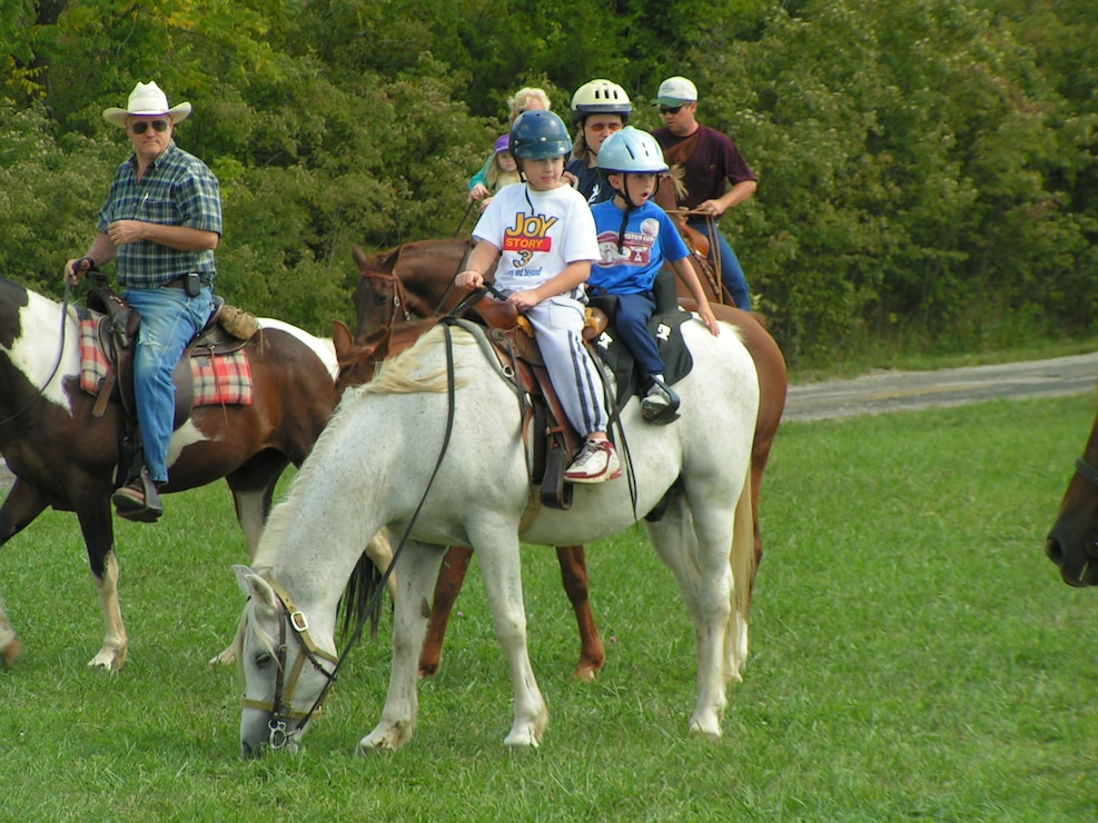
[[[0,673],[0,819],[117,821],[1091,821],[1098,592],[1043,555],[1092,397],[787,424],[763,488],[752,656],[724,737],[690,737],[693,638],[640,529],[590,547],[607,642],[573,682],[552,551],[525,555],[542,747],[508,754],[511,688],[469,575],[416,737],[354,756],[388,677],[388,618],[353,655],[301,756],[245,763],[234,672],[206,661],[243,606],[224,485],[119,522],[130,657],[102,635],[72,515],[2,556],[24,643]],[[474,563],[475,569],[475,563]]]

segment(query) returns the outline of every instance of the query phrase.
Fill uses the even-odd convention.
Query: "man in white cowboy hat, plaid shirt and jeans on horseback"
[[[190,103],[168,107],[155,82],[139,82],[125,109],[103,119],[126,129],[133,153],[115,172],[87,254],[65,266],[67,282],[116,261],[122,298],[141,316],[133,364],[145,466],[112,500],[119,516],[150,523],[162,513],[175,414],[171,373],[210,313],[221,197],[214,172],[176,146],[175,126]]]

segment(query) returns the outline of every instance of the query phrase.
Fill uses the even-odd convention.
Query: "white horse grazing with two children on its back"
[[[675,386],[682,417],[669,426],[644,423],[631,399],[622,412],[619,450],[632,462],[635,484],[626,469],[621,479],[577,487],[568,510],[537,505],[516,389],[469,330],[436,327],[386,360],[375,380],[348,390],[271,513],[255,571],[237,567],[249,595],[238,633],[243,755],[257,756],[268,746],[297,750],[337,660],[340,593],[366,538],[383,526],[393,535],[410,533],[396,562],[388,695],[359,752],[396,750],[412,738],[432,588],[451,545],[472,546],[477,554],[511,672],[514,725],[504,743],[537,746],[548,713],[526,650],[520,542],[572,545],[607,537],[665,496],[665,514],[645,527],[694,623],[698,695],[690,728],[719,737],[726,685],[739,680],[748,653],[753,564],[748,478],[759,388],[733,327],[722,326],[720,337],[695,321],[682,329],[694,358],[691,374]],[[456,388],[452,436],[439,458],[451,414],[446,333],[453,338]]]

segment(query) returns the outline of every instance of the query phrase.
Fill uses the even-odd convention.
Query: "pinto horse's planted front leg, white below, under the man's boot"
[[[109,488],[105,486],[105,488]],[[110,498],[99,495],[92,502],[77,503],[77,518],[88,548],[91,577],[99,593],[103,609],[103,645],[88,665],[117,672],[126,664],[129,639],[122,624],[122,609],[118,603],[118,557],[115,554],[115,532],[110,519]]]

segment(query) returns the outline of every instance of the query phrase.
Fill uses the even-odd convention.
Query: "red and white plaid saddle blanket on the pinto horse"
[[[99,339],[102,315],[80,311],[80,388],[99,394],[107,376],[107,353]],[[251,365],[244,351],[190,358],[196,406],[250,406]]]

